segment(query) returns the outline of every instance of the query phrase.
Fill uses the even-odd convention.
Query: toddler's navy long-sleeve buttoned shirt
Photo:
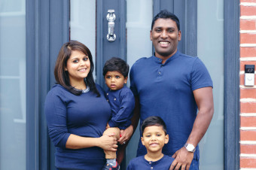
[[[111,106],[111,120],[108,125],[126,129],[131,124],[135,99],[133,92],[126,86],[120,90],[108,90],[108,103]]]

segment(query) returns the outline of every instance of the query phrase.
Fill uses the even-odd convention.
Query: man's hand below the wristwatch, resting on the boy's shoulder
[[[175,169],[178,170],[181,168],[181,170],[189,170],[190,164],[193,160],[194,153],[188,152],[185,147],[182,147],[180,150],[177,150],[172,157],[175,159],[172,162],[171,167],[169,170]]]

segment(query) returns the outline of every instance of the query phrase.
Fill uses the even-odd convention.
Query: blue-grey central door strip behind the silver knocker
[[[115,41],[108,41],[108,10],[114,10]],[[102,68],[113,56],[126,60],[126,0],[96,1],[96,83],[106,88]]]

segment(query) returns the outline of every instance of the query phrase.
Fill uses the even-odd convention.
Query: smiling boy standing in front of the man
[[[169,135],[166,133],[166,123],[160,117],[145,119],[142,123],[142,144],[145,145],[147,154],[132,159],[127,170],[168,170],[174,160],[162,153],[163,146],[168,141]]]

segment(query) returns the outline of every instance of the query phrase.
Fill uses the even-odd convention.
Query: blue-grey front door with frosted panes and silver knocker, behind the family
[[[181,41],[178,50],[191,56],[197,56],[199,53],[200,59],[205,62],[215,84],[215,116],[206,136],[200,143],[202,150],[200,168],[202,169],[224,168],[224,71],[222,65],[218,67],[218,71],[213,65],[216,62],[224,62],[222,48],[224,35],[219,34],[219,32],[224,32],[223,5],[224,0],[218,1],[218,3],[209,0],[206,2],[197,0],[71,0],[70,5],[71,39],[81,41],[90,48],[96,65],[94,71],[96,83],[102,87],[105,87],[102,67],[105,61],[112,56],[125,59],[131,67],[142,56],[152,55],[154,49],[149,35],[151,20],[155,14],[162,9],[167,9],[178,16],[181,22]],[[218,12],[218,16],[215,16],[215,12],[207,13],[211,9]],[[198,15],[199,13],[200,15]],[[112,17],[108,20],[108,14],[114,14],[115,19]],[[203,19],[206,14],[207,17],[211,17],[209,23],[218,23],[216,26],[219,32],[212,32],[210,27],[206,27],[210,26],[204,24]],[[202,32],[201,29],[204,31]],[[109,41],[108,35],[111,38],[115,36],[114,41],[113,39]],[[213,42],[212,38],[206,39],[204,36],[211,36],[216,41]],[[200,41],[200,47],[198,47],[197,41]],[[216,49],[207,49],[207,44],[211,45],[212,43],[219,44],[219,46],[215,46]],[[212,52],[218,51],[218,55],[220,55],[215,57],[211,50]],[[212,53],[212,55],[207,55],[207,53]],[[130,82],[127,83],[127,86],[130,86]],[[139,131],[137,129],[126,150],[126,165],[130,159],[136,156],[138,141]],[[213,151],[210,146],[214,146],[215,150]]]

